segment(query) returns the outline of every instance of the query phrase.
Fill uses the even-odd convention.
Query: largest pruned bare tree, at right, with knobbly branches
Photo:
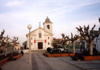
[[[81,38],[85,40],[90,45],[90,55],[93,55],[93,41],[95,38],[94,28],[96,25],[89,30],[89,25],[86,27],[76,27],[76,29],[80,32]]]

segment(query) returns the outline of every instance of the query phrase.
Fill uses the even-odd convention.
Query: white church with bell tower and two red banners
[[[48,47],[52,47],[53,40],[53,27],[52,22],[47,17],[43,23],[43,28],[39,23],[39,27],[30,32],[31,38],[31,50],[46,50]],[[27,37],[27,47],[29,48],[29,34]]]

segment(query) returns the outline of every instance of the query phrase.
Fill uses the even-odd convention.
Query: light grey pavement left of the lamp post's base
[[[32,65],[28,63],[28,54],[25,54],[16,61],[10,61],[4,64],[2,70],[32,70]]]

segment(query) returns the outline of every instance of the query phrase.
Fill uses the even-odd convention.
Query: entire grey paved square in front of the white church
[[[41,52],[32,53],[32,65],[28,53],[16,61],[2,66],[3,70],[100,70],[100,61],[73,61],[70,57],[45,57]]]

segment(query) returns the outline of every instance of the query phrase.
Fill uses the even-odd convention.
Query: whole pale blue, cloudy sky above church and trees
[[[4,29],[4,36],[19,38],[22,44],[27,40],[27,25],[31,24],[33,31],[43,27],[43,22],[49,17],[53,22],[54,37],[61,38],[61,34],[70,36],[78,34],[76,27],[100,23],[100,0],[0,0],[0,32]]]

